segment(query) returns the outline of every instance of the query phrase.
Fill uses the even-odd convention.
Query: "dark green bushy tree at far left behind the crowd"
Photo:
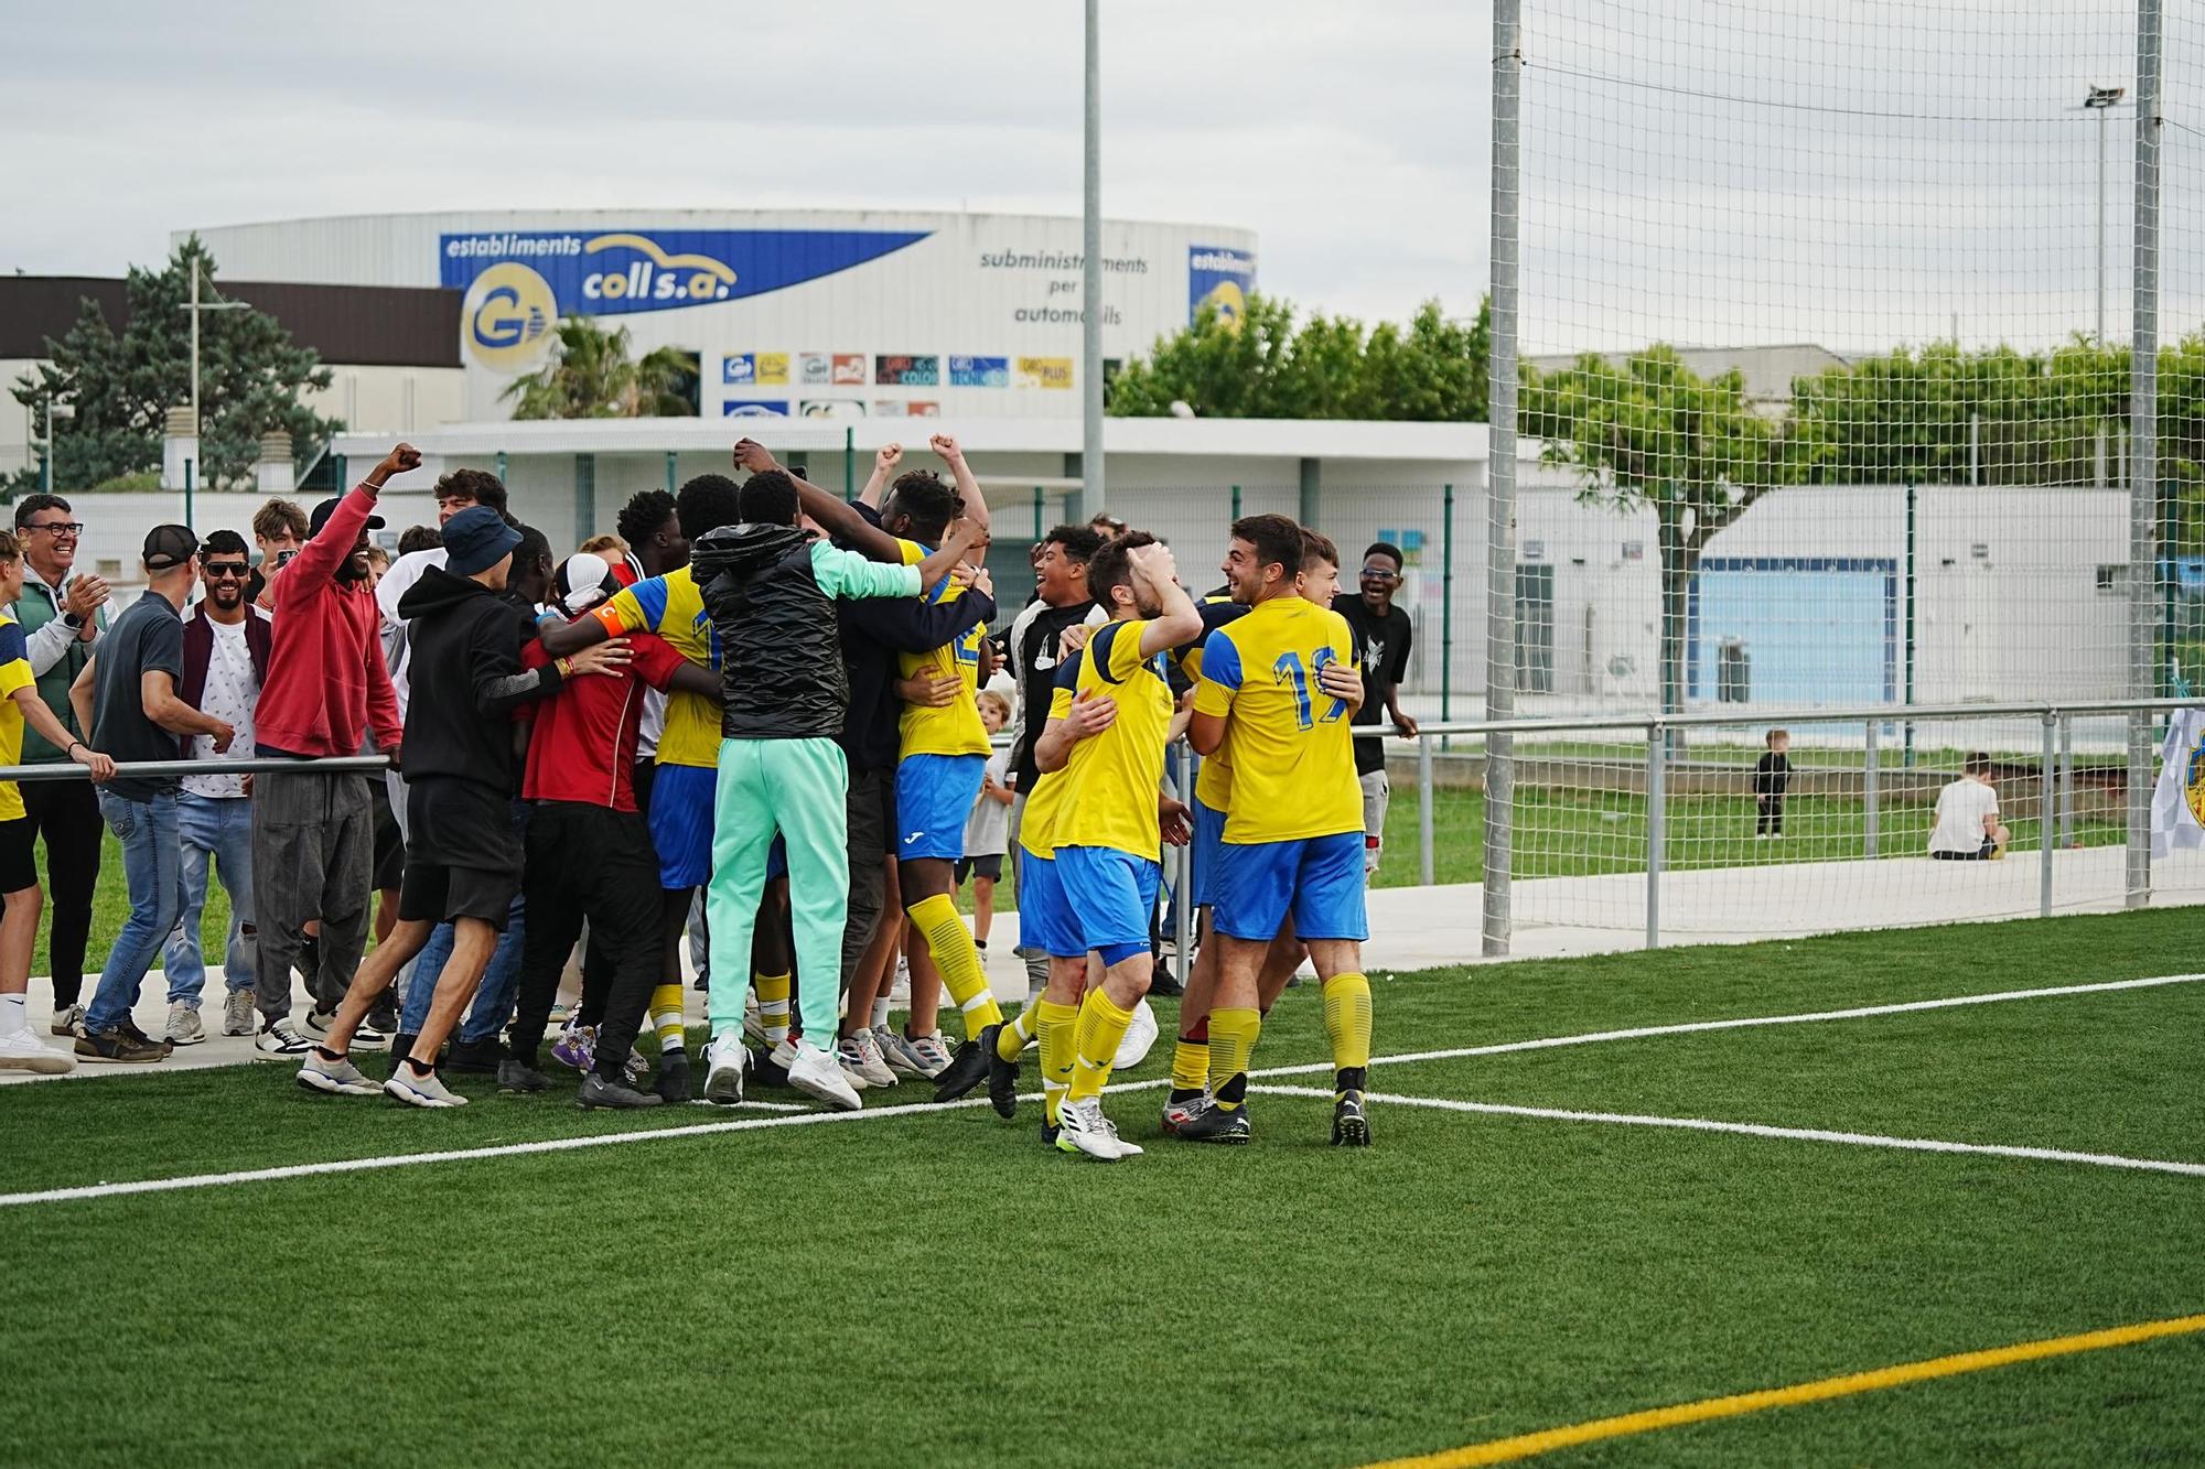
[[[60,342],[46,340],[49,362],[15,379],[15,401],[44,410],[66,397],[75,419],[55,435],[53,483],[86,487],[119,474],[161,468],[161,428],[170,408],[192,401],[192,267],[201,300],[220,300],[214,258],[192,236],[161,269],[130,267],[123,291],[130,318],[117,331],[101,309],[84,311]],[[267,311],[205,311],[198,344],[201,443],[209,485],[251,474],[260,437],[289,432],[293,443],[322,443],[344,423],[324,419],[300,395],[326,388],[331,373],[313,349],[298,346]],[[7,481],[9,494],[35,490],[40,465]]]

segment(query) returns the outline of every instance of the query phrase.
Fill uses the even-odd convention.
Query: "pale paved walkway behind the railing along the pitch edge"
[[[1660,935],[1665,944],[1751,944],[1806,937],[1843,929],[1896,929],[1945,922],[2033,918],[2040,904],[2042,858],[2035,851],[2002,862],[1932,862],[1890,858],[1857,862],[1771,862],[1665,873]],[[2152,869],[2152,904],[2205,904],[2205,851],[2185,851]],[[1645,946],[1647,878],[1643,871],[1601,878],[1539,878],[1515,884],[1513,955],[1557,957],[1616,953]],[[2055,913],[2115,913],[2123,907],[2123,851],[2090,847],[2053,854]],[[1480,962],[1484,918],[1482,884],[1383,887],[1369,896],[1372,940],[1363,962],[1372,971],[1409,973],[1442,964]],[[988,951],[988,979],[1005,1001],[1025,999],[1025,966],[1012,957],[1017,913],[999,913]],[[686,966],[686,955],[684,955]],[[86,995],[90,982],[86,984]],[[220,968],[207,977],[209,1028],[220,1026]],[[703,1019],[703,995],[688,993],[690,1021]],[[146,1034],[168,1026],[168,990],[159,971],[148,977],[135,1010]],[[300,1008],[304,1017],[304,1008]],[[53,1019],[53,988],[31,982],[31,1023],[44,1037]],[[55,1043],[62,1041],[55,1037]],[[79,1065],[73,1076],[117,1076],[148,1070],[196,1070],[254,1059],[245,1037],[214,1034],[205,1046],[174,1052],[157,1068]],[[295,1063],[293,1063],[295,1065]],[[269,1070],[276,1070],[269,1065]],[[0,1083],[33,1081],[0,1072]]]

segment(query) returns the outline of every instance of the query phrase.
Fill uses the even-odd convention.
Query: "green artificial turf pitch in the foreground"
[[[2194,911],[1374,977],[1376,1054],[2205,968]],[[1127,1081],[1169,1065],[1166,1039]],[[1292,990],[1257,1065],[1321,1061]],[[1378,1065],[1378,1092],[2205,1165],[2205,984]],[[379,1063],[377,1063],[379,1070]],[[1028,1068],[1028,1083],[1034,1072]],[[1325,1085],[1323,1076],[1281,1079]],[[249,1065],[0,1087],[0,1193],[728,1120]],[[900,1092],[906,1087],[900,1087]],[[1257,1096],[0,1207],[0,1462],[1358,1465],[2205,1310],[2205,1178]],[[789,1101],[783,1096],[781,1101]],[[889,1094],[873,1105],[906,1101]],[[1539,1462],[2190,1462],[2205,1334]]]

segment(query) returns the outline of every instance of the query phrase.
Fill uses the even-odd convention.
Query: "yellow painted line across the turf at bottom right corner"
[[[1857,1392],[1881,1392],[1885,1387],[1905,1387],[1907,1383],[1927,1383],[1936,1376],[1987,1372],[1991,1368],[2011,1368],[2020,1361],[2042,1361],[2046,1357],[2066,1357],[2070,1352],[2099,1352],[2104,1348],[2134,1345],[2137,1341],[2183,1337],[2190,1332],[2205,1332],[2205,1317],[2110,1326],[2099,1332],[2082,1332],[2079,1337],[2022,1341],[2018,1345],[1991,1348],[1989,1352],[1960,1352],[1958,1357],[1907,1361],[1896,1368],[1848,1372],[1846,1376],[1826,1376],[1817,1383],[1797,1383],[1793,1387],[1768,1387],[1762,1392],[1740,1392],[1729,1398],[1702,1398],[1698,1403],[1676,1403],[1674,1407],[1649,1407],[1645,1412],[1621,1414],[1616,1418],[1594,1418],[1592,1423],[1572,1423],[1568,1427],[1541,1429],[1537,1434],[1517,1434],[1515,1438],[1473,1443],[1462,1449],[1442,1449],[1440,1454],[1389,1458],[1380,1465],[1367,1465],[1365,1469],[1469,1469],[1469,1465],[1508,1465],[1519,1458],[1552,1454],[1555,1449],[1572,1449],[1581,1443],[1599,1443],[1601,1438],[1627,1438],[1629,1434],[1652,1434],[1654,1429],[1680,1427],[1685,1423],[1757,1414],[1764,1407],[1824,1403],[1828,1398],[1848,1398]]]

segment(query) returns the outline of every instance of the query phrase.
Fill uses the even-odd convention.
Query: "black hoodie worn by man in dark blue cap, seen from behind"
[[[520,792],[512,715],[560,690],[556,666],[520,668],[529,618],[490,587],[430,567],[399,598],[406,618],[406,779]],[[419,743],[415,743],[419,741]]]

